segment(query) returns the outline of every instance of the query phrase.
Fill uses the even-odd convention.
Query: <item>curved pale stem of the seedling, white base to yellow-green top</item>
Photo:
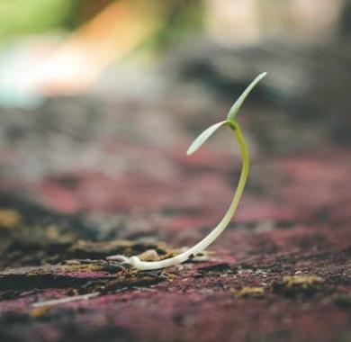
[[[227,228],[230,220],[232,219],[235,212],[237,211],[238,203],[240,202],[241,195],[244,191],[244,187],[247,182],[247,175],[248,175],[248,168],[249,168],[247,144],[242,135],[240,127],[238,126],[238,122],[228,121],[228,124],[231,130],[233,131],[235,138],[238,141],[238,146],[240,148],[240,153],[242,157],[242,166],[241,166],[241,175],[238,180],[237,191],[235,192],[233,200],[229,205],[228,211],[220,220],[220,223],[218,223],[218,225],[214,229],[212,229],[209,235],[207,235],[205,238],[202,238],[200,242],[198,242],[193,247],[189,248],[188,250],[184,251],[183,253],[175,257],[170,257],[168,259],[160,260],[160,261],[141,261],[139,257],[119,256],[120,259],[123,260],[123,262],[130,264],[130,266],[133,266],[139,269],[140,271],[154,270],[154,269],[165,268],[169,266],[175,266],[177,264],[183,263],[189,257],[194,257],[197,254],[201,253],[203,249],[210,246],[211,243],[220,236],[220,233]]]

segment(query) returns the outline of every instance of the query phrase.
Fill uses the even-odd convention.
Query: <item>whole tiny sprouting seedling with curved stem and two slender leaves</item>
[[[238,180],[238,187],[236,192],[234,193],[234,197],[232,202],[229,205],[228,211],[225,213],[223,218],[220,220],[220,223],[211,230],[211,232],[205,237],[202,238],[200,242],[198,242],[193,247],[187,249],[183,253],[175,256],[169,257],[164,260],[159,261],[142,261],[139,257],[125,257],[125,256],[112,256],[108,257],[110,260],[118,260],[121,261],[122,264],[128,264],[134,268],[137,268],[140,271],[146,270],[154,270],[159,268],[165,268],[169,266],[175,266],[177,264],[184,263],[184,261],[188,260],[190,257],[194,257],[201,253],[203,249],[209,247],[211,243],[220,236],[220,233],[227,228],[230,220],[237,211],[238,202],[240,201],[241,195],[244,191],[245,184],[247,182],[248,168],[249,168],[249,156],[247,150],[247,144],[240,130],[240,126],[238,125],[237,115],[238,111],[247,98],[247,95],[254,89],[254,87],[261,81],[262,78],[266,76],[266,72],[258,75],[250,85],[244,90],[244,92],[239,96],[238,100],[231,106],[228,117],[224,121],[220,121],[211,125],[207,130],[202,131],[202,133],[193,141],[190,148],[188,148],[186,154],[188,156],[192,155],[196,152],[202,145],[211,137],[211,135],[218,130],[222,126],[228,126],[229,129],[234,133],[234,137],[238,141],[238,147],[240,149],[241,158],[242,158],[242,166],[241,166],[241,175]]]

